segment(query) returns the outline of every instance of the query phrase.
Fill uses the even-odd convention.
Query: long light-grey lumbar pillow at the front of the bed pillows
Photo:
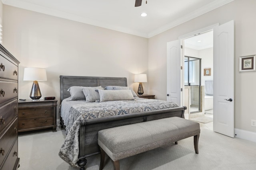
[[[100,102],[112,100],[134,100],[131,90],[98,90]]]

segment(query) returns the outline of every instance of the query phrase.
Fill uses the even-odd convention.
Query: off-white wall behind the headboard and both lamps
[[[126,77],[137,91],[134,74],[148,73],[146,38],[6,5],[3,14],[3,45],[20,61],[19,98],[30,99],[32,82],[23,81],[25,67],[46,68],[48,80],[39,82],[42,99],[57,100],[60,75]]]

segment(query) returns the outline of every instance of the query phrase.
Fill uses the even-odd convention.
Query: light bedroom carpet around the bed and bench
[[[65,132],[32,131],[19,133],[18,170],[79,170],[64,162],[58,152]],[[193,137],[178,141],[178,145],[150,150],[120,160],[121,170],[255,170],[256,143],[231,138],[201,128],[199,154],[194,151]],[[100,155],[87,158],[86,170],[98,170]],[[104,170],[113,170],[106,156]]]

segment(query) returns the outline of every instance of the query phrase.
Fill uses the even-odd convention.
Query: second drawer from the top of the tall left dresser
[[[0,103],[18,98],[18,83],[0,81]]]

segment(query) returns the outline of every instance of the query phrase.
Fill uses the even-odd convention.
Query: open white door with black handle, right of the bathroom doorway
[[[213,131],[234,137],[234,21],[214,28],[213,41]]]

